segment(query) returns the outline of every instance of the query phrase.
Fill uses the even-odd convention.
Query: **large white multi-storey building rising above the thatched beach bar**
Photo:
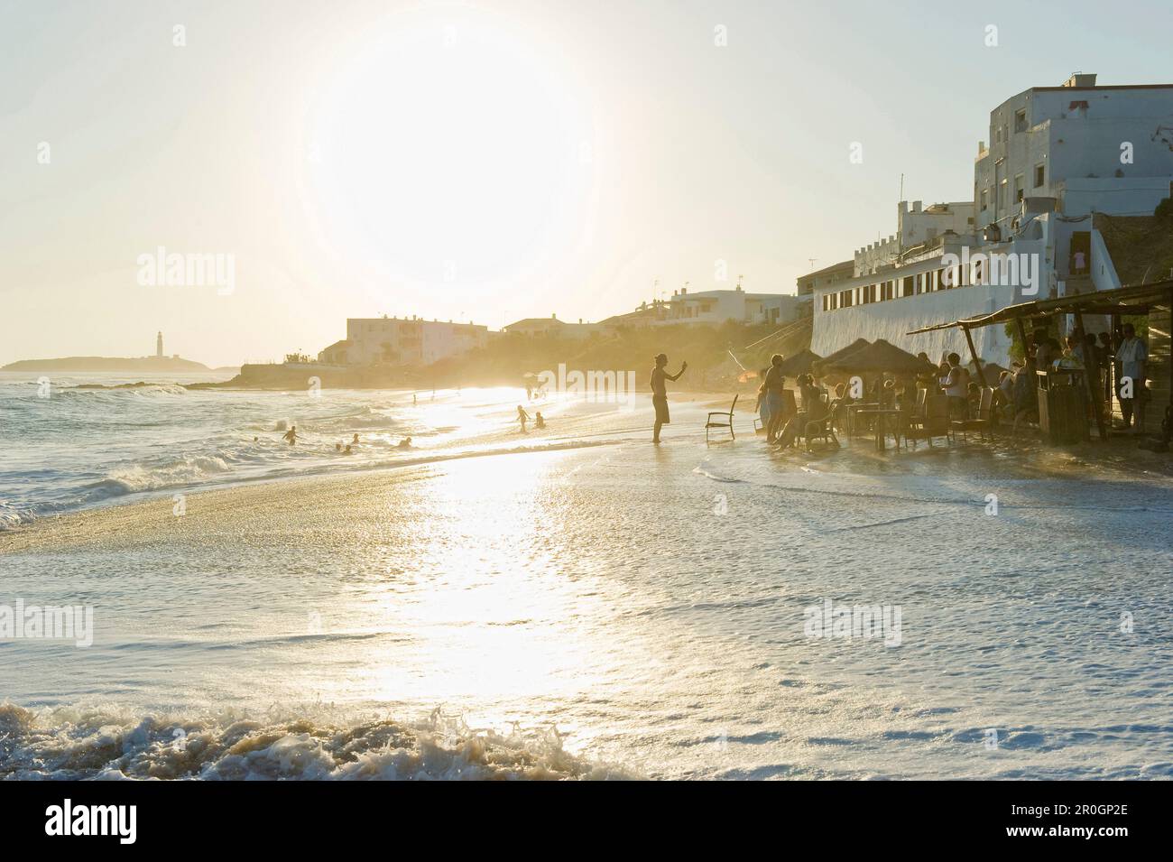
[[[1015,301],[1119,287],[1089,213],[1152,215],[1171,196],[1173,84],[1096,87],[1094,79],[1036,87],[995,109],[992,144],[974,168],[975,201],[925,210],[902,202],[900,232],[856,252],[855,278],[815,290],[811,349],[827,355],[857,338],[883,338],[934,361],[950,352],[968,358],[956,328],[908,333]],[[988,263],[947,267],[947,254],[989,253],[1024,264],[1015,284],[997,284]],[[978,355],[1008,364],[1002,327],[972,335]]]

